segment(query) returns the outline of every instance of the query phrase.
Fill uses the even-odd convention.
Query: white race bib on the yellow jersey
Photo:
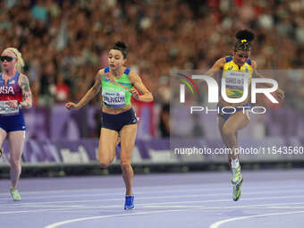
[[[225,72],[224,80],[226,88],[229,89],[244,89],[244,81],[249,80],[248,72]]]

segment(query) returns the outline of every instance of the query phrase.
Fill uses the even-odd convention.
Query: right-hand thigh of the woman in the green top
[[[121,131],[121,162],[131,163],[131,156],[135,144],[137,124],[125,125]]]

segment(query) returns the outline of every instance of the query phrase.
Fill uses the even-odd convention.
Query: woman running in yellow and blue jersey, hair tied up
[[[249,30],[239,30],[236,33],[236,38],[237,41],[234,45],[233,55],[220,58],[206,72],[207,75],[212,77],[220,75],[220,79],[218,79],[220,83],[222,78],[225,79],[225,92],[227,97],[230,98],[242,97],[244,85],[243,80],[239,80],[240,78],[248,80],[249,85],[252,76],[264,78],[257,72],[257,63],[250,60],[251,41],[254,39],[254,34]],[[266,87],[272,87],[272,85],[266,84]],[[279,99],[283,99],[284,93],[282,89],[277,89],[275,93]],[[227,108],[226,106],[230,106],[231,108]],[[232,151],[228,155],[228,159],[229,165],[232,167],[232,198],[234,201],[237,201],[241,196],[241,183],[243,180],[239,155],[234,148],[238,148],[238,131],[249,124],[249,110],[241,106],[250,107],[249,97],[244,102],[237,104],[228,103],[223,97],[220,97],[217,105],[219,108],[218,128],[224,145],[227,148],[231,148]],[[233,111],[235,112],[233,113]]]

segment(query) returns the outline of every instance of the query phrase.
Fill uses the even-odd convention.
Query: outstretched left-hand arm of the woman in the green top
[[[85,96],[80,99],[80,101],[77,104],[73,102],[68,102],[65,104],[65,107],[67,107],[68,109],[71,108],[79,109],[80,107],[86,105],[91,99],[93,99],[101,89],[101,80],[103,73],[104,73],[103,69],[97,72],[94,85],[89,89],[89,91],[85,94]]]

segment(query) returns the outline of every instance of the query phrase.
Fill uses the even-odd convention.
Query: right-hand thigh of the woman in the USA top
[[[25,131],[11,131],[8,133],[11,158],[20,159],[23,151]]]

